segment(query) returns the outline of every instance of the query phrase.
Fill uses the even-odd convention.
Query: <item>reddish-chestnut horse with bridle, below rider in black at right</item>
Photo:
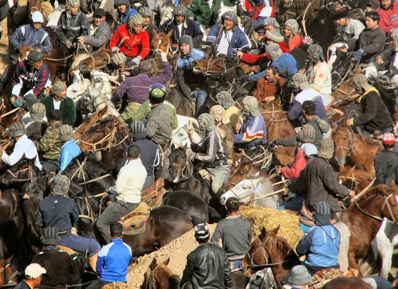
[[[336,127],[333,131],[334,159],[339,165],[350,157],[357,168],[374,171],[374,156],[383,150],[380,141],[354,134],[347,127]],[[365,153],[366,152],[366,153]]]

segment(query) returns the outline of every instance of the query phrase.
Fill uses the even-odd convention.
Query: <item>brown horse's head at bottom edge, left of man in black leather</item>
[[[140,288],[142,289],[172,289],[180,285],[179,278],[167,267],[170,258],[158,263],[153,258],[148,270],[144,273],[144,281]]]

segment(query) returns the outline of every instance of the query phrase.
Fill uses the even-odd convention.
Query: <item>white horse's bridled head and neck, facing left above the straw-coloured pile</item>
[[[281,205],[273,184],[266,177],[260,176],[259,172],[248,174],[245,180],[221,195],[221,205],[225,205],[229,197],[237,197],[241,203],[253,201],[253,205],[265,208],[277,209]]]

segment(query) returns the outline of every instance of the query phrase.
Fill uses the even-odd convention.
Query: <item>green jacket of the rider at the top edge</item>
[[[212,8],[210,8],[210,6],[208,5],[208,0],[194,0],[192,4],[188,7],[187,16],[194,17],[195,21],[207,27],[212,26],[217,21],[221,2],[224,3],[224,6],[234,6],[228,0],[214,0],[213,6]]]

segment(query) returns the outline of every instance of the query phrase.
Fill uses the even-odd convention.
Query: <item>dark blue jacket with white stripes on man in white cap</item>
[[[50,52],[53,48],[48,33],[43,28],[36,30],[30,24],[18,27],[10,37],[10,42],[17,50],[20,50],[24,44],[28,47],[38,48],[43,54]]]

